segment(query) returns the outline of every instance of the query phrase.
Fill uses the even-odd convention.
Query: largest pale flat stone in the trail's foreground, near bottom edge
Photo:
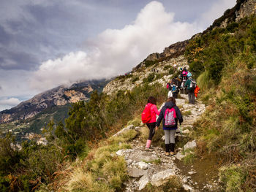
[[[173,172],[172,169],[167,169],[165,171],[158,172],[157,174],[153,174],[151,178],[151,184],[157,187],[161,186],[166,183],[173,175],[176,174]]]

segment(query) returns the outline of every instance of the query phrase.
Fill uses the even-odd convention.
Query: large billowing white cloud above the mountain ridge
[[[86,43],[87,51],[69,53],[63,58],[42,63],[31,78],[31,87],[41,91],[76,80],[111,77],[138,65],[147,55],[174,42],[189,39],[202,29],[196,23],[173,20],[158,1],[140,10],[132,24],[122,29],[107,29]]]

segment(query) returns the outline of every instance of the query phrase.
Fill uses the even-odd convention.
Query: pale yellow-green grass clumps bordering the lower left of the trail
[[[129,141],[136,137],[137,131],[127,130],[118,137],[111,137],[103,143],[86,166],[78,166],[63,186],[67,191],[120,191],[127,180],[127,166],[124,157],[116,155],[120,149],[130,148]]]

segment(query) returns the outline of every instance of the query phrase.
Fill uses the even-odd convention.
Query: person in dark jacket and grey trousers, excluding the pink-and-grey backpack
[[[166,127],[165,126],[165,111],[167,109],[174,109],[176,112],[176,118],[175,118],[175,125],[172,127]],[[157,118],[157,124],[156,129],[160,126],[162,120],[162,128],[165,131],[165,155],[174,155],[174,148],[175,148],[175,134],[176,130],[178,128],[178,122],[183,122],[183,118],[181,115],[181,111],[176,106],[176,99],[173,97],[170,97],[167,99],[167,102],[165,103],[165,106],[162,107],[162,110],[159,114],[159,117]]]

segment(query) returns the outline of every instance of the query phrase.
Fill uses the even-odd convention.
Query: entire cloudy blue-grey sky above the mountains
[[[0,111],[59,85],[129,72],[236,0],[0,0]]]

